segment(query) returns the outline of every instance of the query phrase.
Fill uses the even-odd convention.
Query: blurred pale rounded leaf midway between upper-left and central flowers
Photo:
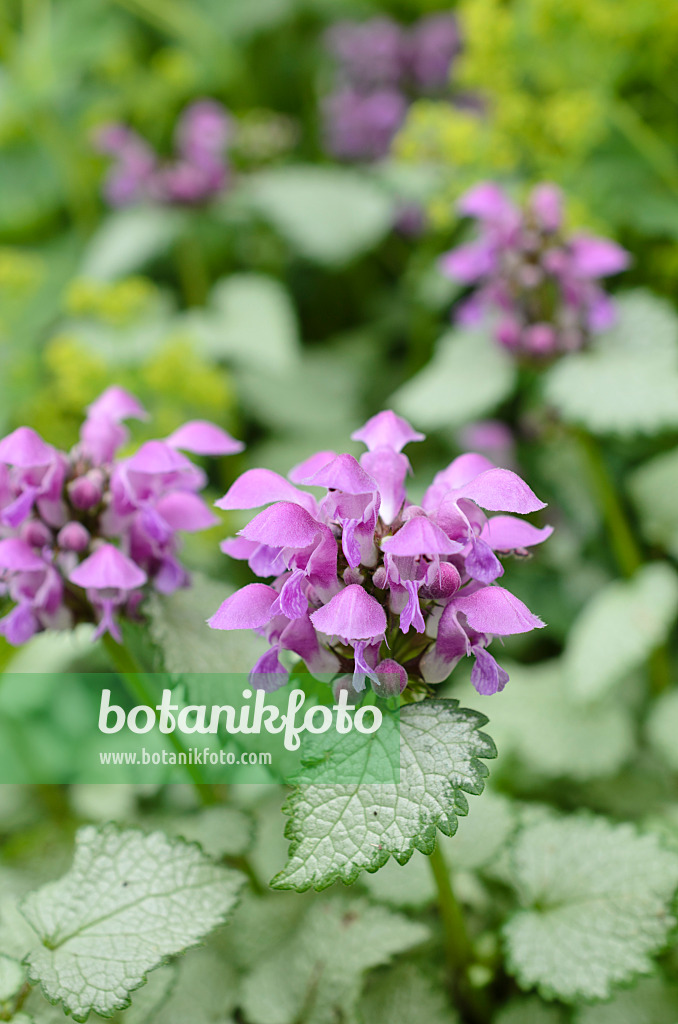
[[[260,273],[223,278],[199,317],[196,333],[203,354],[257,370],[264,367],[273,374],[297,364],[300,346],[294,306],[274,278]]]

